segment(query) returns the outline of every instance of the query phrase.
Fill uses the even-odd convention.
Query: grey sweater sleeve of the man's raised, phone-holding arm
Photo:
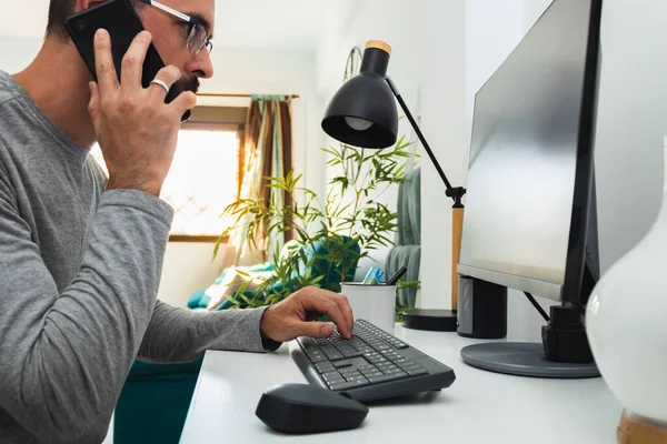
[[[0,406],[40,441],[101,442],[156,305],[171,209],[102,193],[59,292],[0,174]]]

